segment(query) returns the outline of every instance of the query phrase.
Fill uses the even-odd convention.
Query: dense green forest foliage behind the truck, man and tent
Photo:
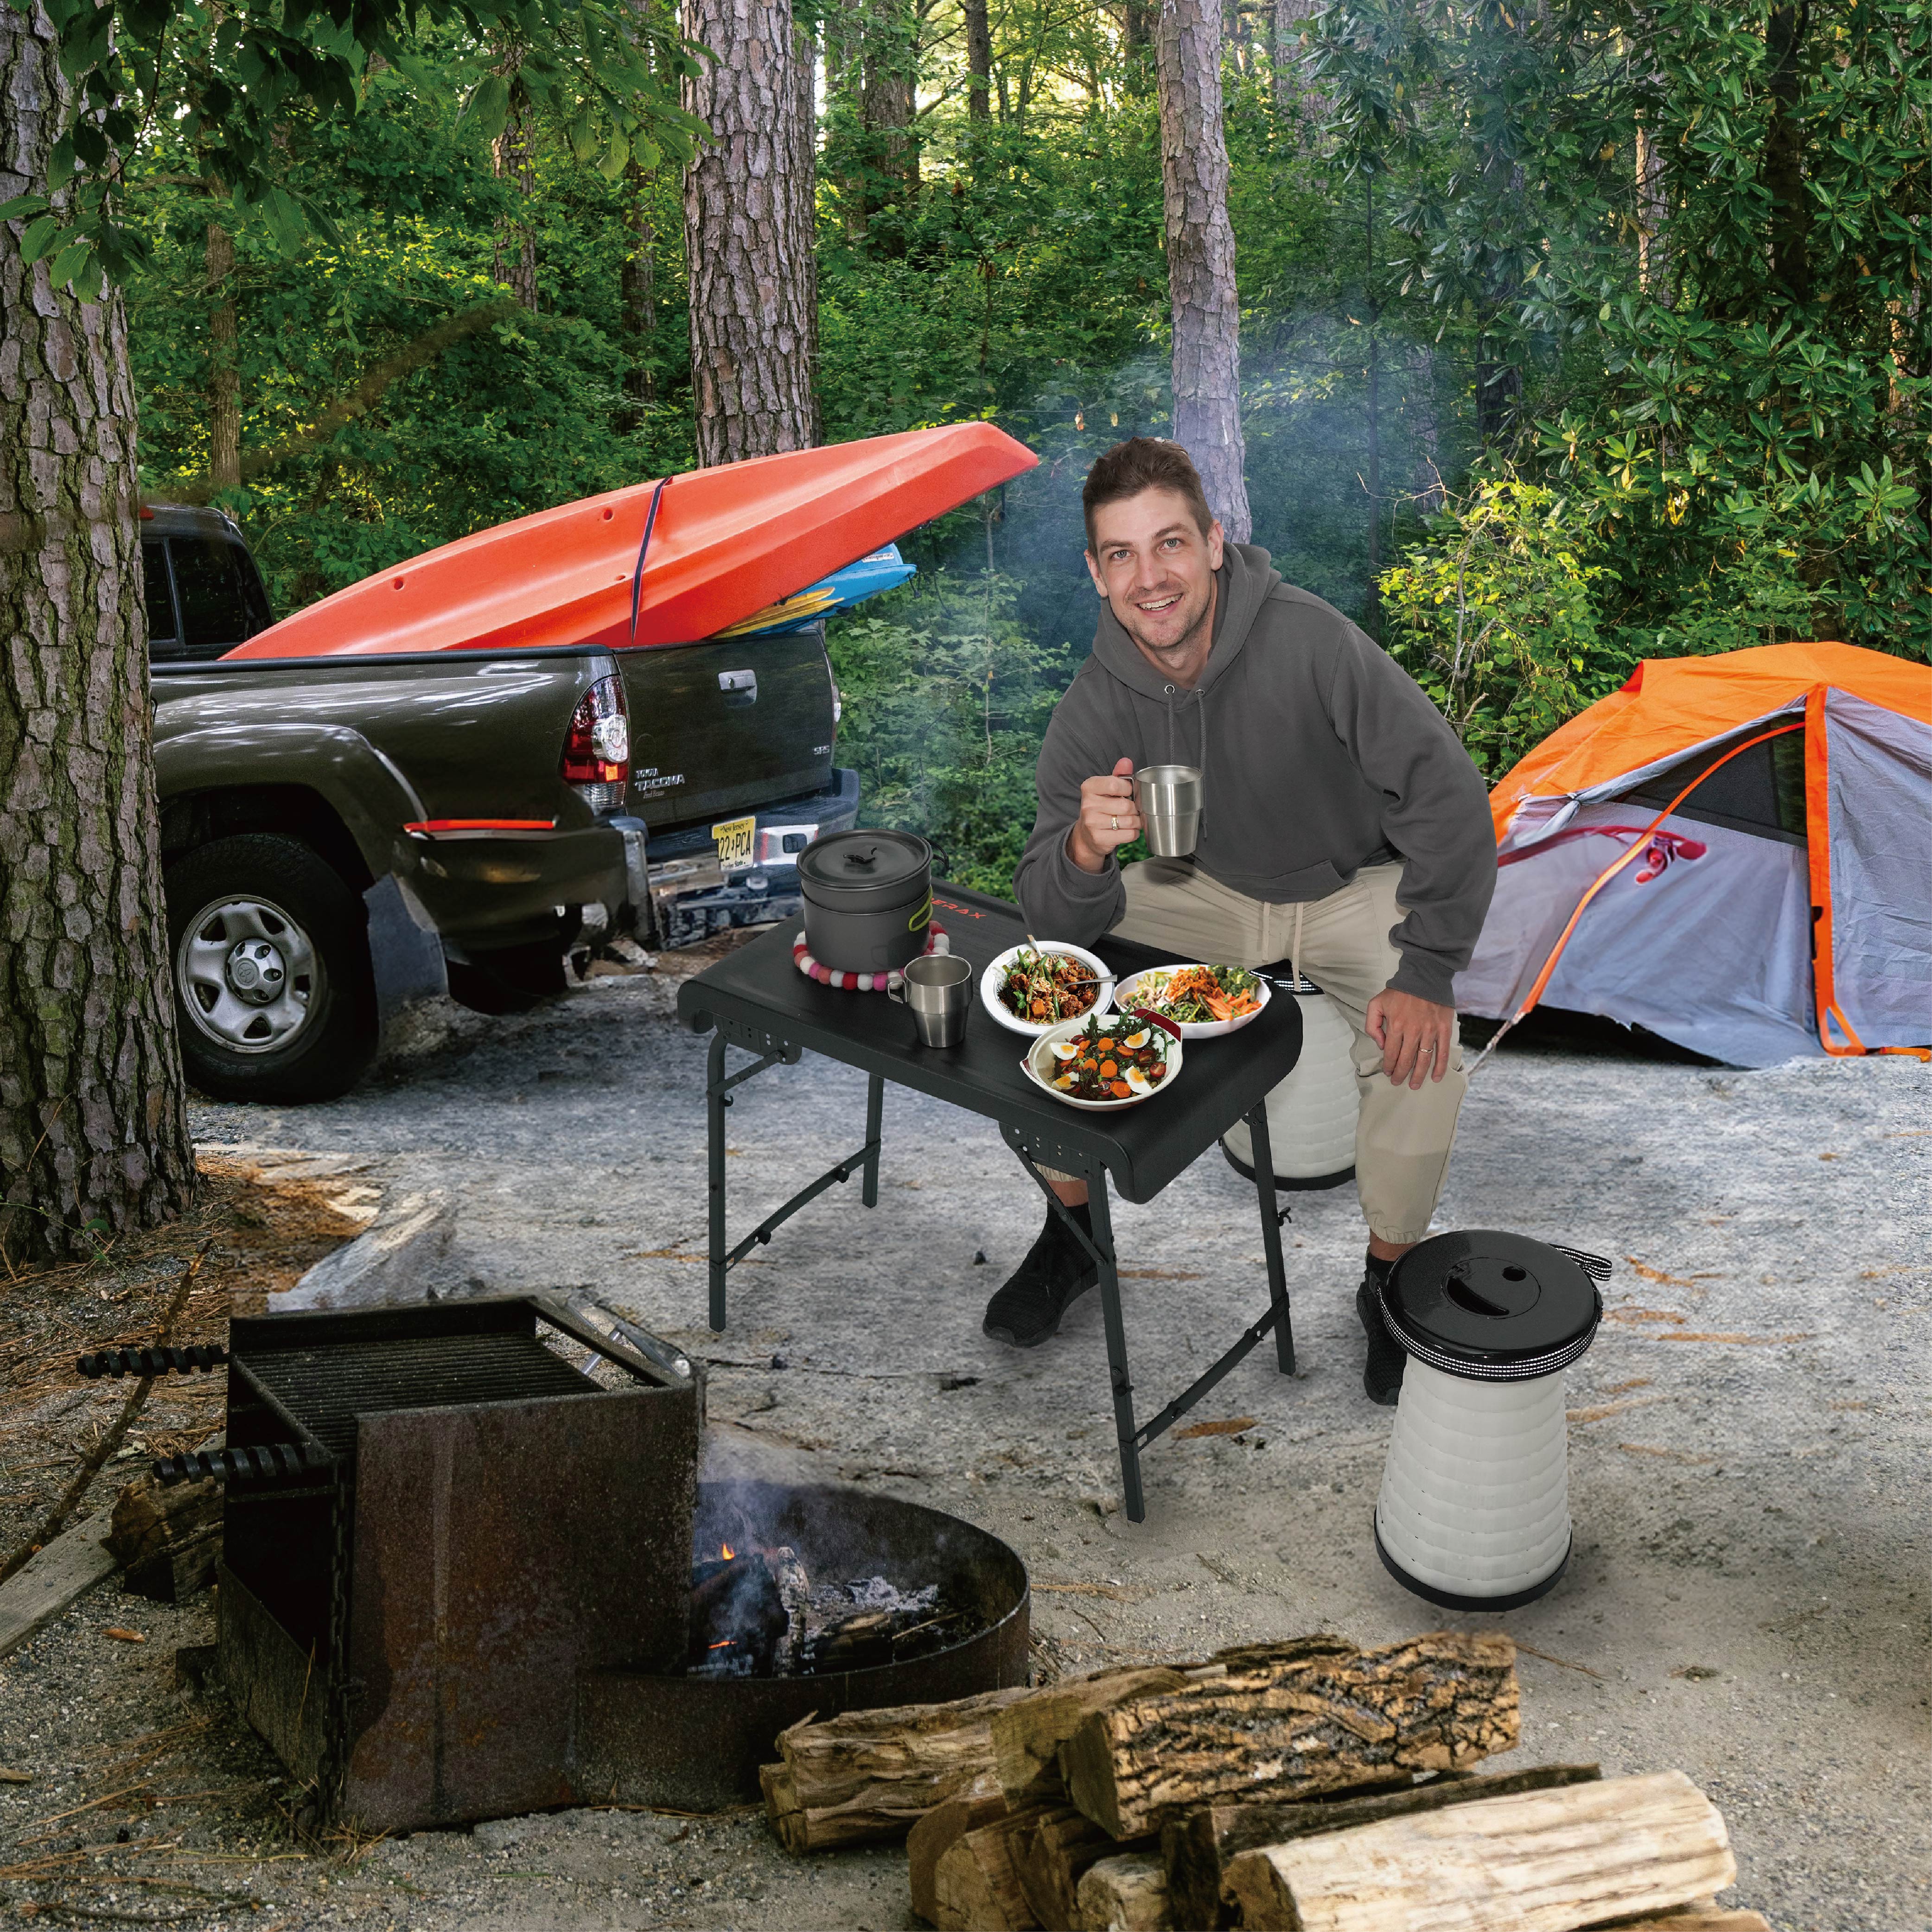
[[[867,819],[995,891],[1092,636],[1086,466],[1171,425],[1151,14],[798,15],[823,439],[987,417],[1041,456],[831,639]],[[1642,655],[1932,657],[1932,10],[1227,0],[1221,29],[1254,541],[1488,777]],[[280,201],[222,197],[168,122],[131,166],[143,489],[232,510],[278,614],[696,462],[678,158],[605,164],[520,71],[425,25],[354,118],[282,120]]]

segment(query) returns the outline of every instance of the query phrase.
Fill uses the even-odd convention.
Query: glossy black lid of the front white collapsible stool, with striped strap
[[[1389,1333],[1472,1381],[1553,1376],[1590,1347],[1609,1264],[1526,1235],[1463,1229],[1410,1248],[1381,1287]]]

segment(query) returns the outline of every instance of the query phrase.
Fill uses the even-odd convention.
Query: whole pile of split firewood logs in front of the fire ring
[[[1517,1735],[1499,1633],[1308,1636],[808,1719],[763,1785],[788,1851],[904,1837],[941,1932],[1768,1932],[1681,1772],[1472,1770]]]

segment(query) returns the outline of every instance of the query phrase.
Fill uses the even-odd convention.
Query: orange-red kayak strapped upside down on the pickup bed
[[[444,543],[228,657],[696,643],[1037,462],[951,423],[692,469]]]

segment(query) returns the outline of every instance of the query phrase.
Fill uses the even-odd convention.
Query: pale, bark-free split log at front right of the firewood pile
[[[1710,1799],[1656,1772],[1267,1845],[1227,1878],[1248,1928],[1575,1932],[1710,1897],[1737,1864]]]

